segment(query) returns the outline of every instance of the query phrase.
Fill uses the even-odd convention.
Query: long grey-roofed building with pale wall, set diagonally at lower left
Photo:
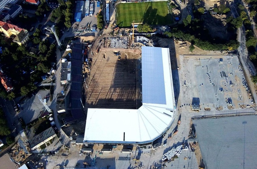
[[[56,137],[56,134],[52,127],[46,129],[42,133],[34,136],[32,139],[28,140],[31,150],[37,149],[41,145],[45,144],[52,138]]]

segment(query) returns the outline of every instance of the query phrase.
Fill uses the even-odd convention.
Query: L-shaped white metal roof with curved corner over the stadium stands
[[[143,144],[167,131],[176,111],[169,48],[142,46],[142,104],[88,109],[84,142]]]

